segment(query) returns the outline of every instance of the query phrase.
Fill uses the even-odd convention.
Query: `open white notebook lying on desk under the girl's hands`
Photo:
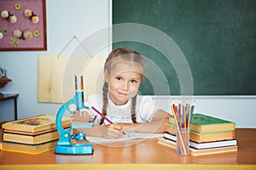
[[[118,139],[105,139],[102,137],[87,136],[86,139],[91,143],[109,143],[109,142],[119,142],[131,139],[154,139],[161,138],[164,133],[128,133],[127,136],[122,136]]]

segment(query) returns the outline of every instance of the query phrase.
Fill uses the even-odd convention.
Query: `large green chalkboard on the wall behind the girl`
[[[148,29],[138,33],[133,30],[137,25],[128,24],[131,29],[124,31],[114,27],[123,23]],[[166,45],[158,34],[174,43]],[[113,0],[113,48],[120,46],[153,63],[142,94],[256,94],[255,0]],[[178,62],[183,57],[188,74]]]

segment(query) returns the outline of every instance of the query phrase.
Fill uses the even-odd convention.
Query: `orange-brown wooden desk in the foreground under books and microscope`
[[[177,156],[157,139],[94,144],[91,156],[55,155],[54,150],[32,156],[0,151],[0,169],[256,169],[256,128],[236,129],[238,151],[210,156]],[[126,147],[120,147],[130,145]],[[12,165],[12,166],[9,166]]]

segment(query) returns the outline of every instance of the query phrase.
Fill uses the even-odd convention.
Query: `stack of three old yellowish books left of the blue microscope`
[[[71,121],[62,117],[62,127]],[[3,141],[0,150],[27,154],[40,154],[55,149],[60,135],[56,130],[55,116],[34,116],[2,125]]]

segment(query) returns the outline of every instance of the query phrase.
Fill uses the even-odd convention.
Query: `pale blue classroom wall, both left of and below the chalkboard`
[[[13,79],[0,92],[20,94],[18,118],[41,114],[55,115],[61,106],[37,101],[38,54],[59,54],[74,35],[82,40],[96,30],[109,26],[107,0],[77,0],[75,3],[67,0],[46,0],[46,7],[47,51],[0,52],[0,65],[8,70],[8,76]],[[72,53],[76,45],[76,42],[72,42],[65,54]],[[158,96],[156,99],[164,110],[170,111],[170,97]],[[256,127],[255,97],[195,97],[195,103],[195,112],[228,119],[236,122],[236,127]],[[10,105],[12,104],[9,101],[0,103],[0,122],[14,118],[13,112],[8,109]],[[9,115],[6,116],[6,113]]]

